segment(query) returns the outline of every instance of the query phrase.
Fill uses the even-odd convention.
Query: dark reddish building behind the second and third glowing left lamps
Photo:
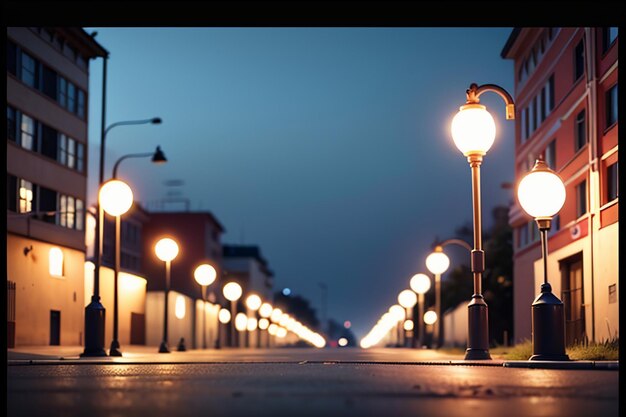
[[[221,295],[224,227],[209,212],[150,212],[143,227],[143,268],[148,278],[146,296],[146,344],[158,346],[163,338],[165,263],[156,257],[154,246],[163,237],[178,243],[179,253],[171,263],[168,297],[168,345],[176,349],[181,338],[187,348],[202,347],[206,324],[207,346],[215,345],[217,313]],[[208,288],[211,302],[202,301],[202,289],[194,278],[201,263],[210,263],[218,278]],[[205,315],[205,318],[202,315]]]

